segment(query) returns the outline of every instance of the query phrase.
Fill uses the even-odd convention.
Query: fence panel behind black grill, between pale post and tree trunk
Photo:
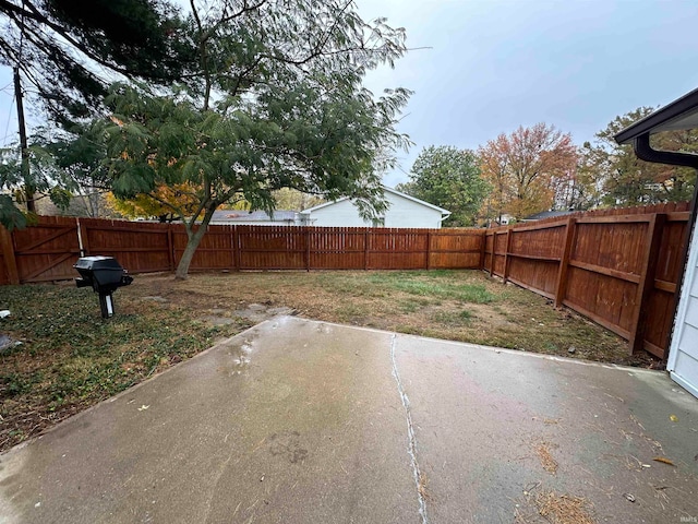
[[[115,257],[131,273],[169,271],[168,224],[80,218],[85,254]]]

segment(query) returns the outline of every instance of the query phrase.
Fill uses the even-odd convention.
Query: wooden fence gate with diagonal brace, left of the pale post
[[[73,269],[80,257],[75,218],[41,216],[38,224],[14,229],[11,237],[20,283],[77,276]]]

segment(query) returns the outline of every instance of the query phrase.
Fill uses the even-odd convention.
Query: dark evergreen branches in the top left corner
[[[168,84],[195,53],[164,0],[0,0],[0,63],[20,68],[59,123],[99,107],[109,75]]]

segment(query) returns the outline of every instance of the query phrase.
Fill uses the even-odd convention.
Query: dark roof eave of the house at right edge
[[[682,96],[657,111],[638,120],[616,134],[618,144],[627,144],[642,134],[698,128],[698,90]]]

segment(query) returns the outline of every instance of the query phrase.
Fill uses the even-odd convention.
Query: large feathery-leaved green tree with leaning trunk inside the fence
[[[380,153],[407,145],[395,124],[409,93],[375,98],[362,78],[402,55],[402,29],[337,0],[192,2],[189,22],[198,61],[179,87],[117,84],[107,98],[113,193],[194,188],[194,213],[172,206],[189,235],[178,278],[214,211],[236,199],[272,210],[288,187],[354,198],[366,216],[385,207],[380,174],[394,159]]]

